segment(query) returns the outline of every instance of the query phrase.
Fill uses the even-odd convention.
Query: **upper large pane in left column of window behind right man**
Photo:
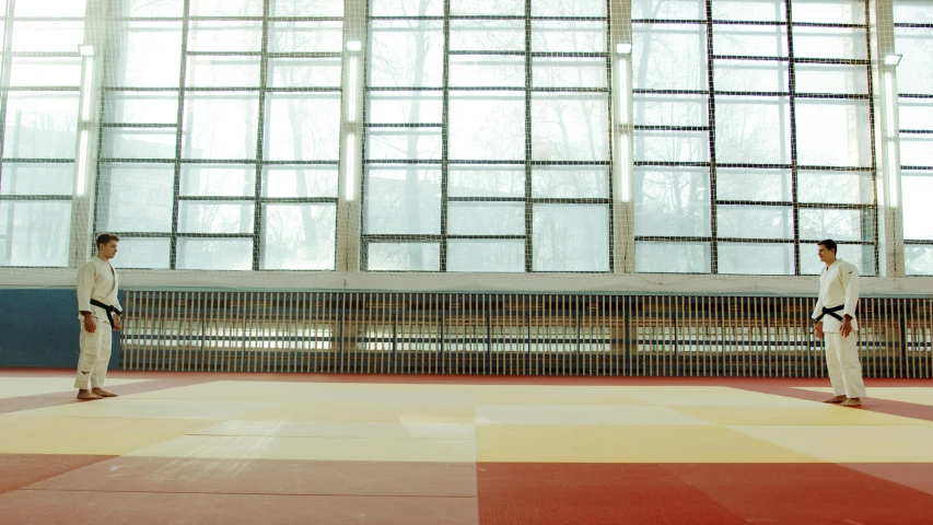
[[[709,89],[702,26],[635,24],[632,83],[641,90]]]

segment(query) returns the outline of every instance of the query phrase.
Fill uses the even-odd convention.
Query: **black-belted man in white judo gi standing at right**
[[[865,396],[855,332],[859,322],[859,270],[851,262],[836,257],[836,243],[826,240],[817,245],[819,260],[826,268],[819,275],[819,299],[813,308],[816,337],[826,339],[826,366],[832,383],[833,397],[823,402],[841,407],[860,407]]]

